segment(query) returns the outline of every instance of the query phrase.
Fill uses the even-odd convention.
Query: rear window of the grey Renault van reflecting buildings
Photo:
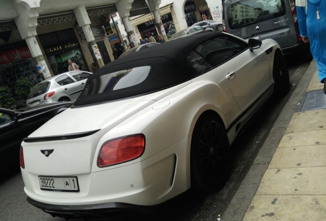
[[[230,29],[237,29],[277,18],[286,14],[284,0],[243,0],[227,7]]]

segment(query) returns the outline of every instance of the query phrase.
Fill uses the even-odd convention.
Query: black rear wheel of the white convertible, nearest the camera
[[[230,144],[219,118],[203,115],[197,121],[190,151],[191,188],[197,192],[218,190],[230,173]]]

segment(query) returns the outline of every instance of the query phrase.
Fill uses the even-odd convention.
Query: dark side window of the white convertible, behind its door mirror
[[[234,37],[221,35],[198,45],[188,54],[188,65],[200,74],[225,62],[248,48]]]

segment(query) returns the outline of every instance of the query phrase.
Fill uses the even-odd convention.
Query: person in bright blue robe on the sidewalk
[[[316,60],[318,78],[326,94],[326,1],[296,0],[300,35],[310,42],[311,54]],[[321,11],[319,11],[321,10]]]

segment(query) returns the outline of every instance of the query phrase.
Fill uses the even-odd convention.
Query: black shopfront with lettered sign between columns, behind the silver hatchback
[[[68,71],[69,59],[79,66],[79,70],[89,71],[72,29],[43,34],[38,37],[54,75]]]

